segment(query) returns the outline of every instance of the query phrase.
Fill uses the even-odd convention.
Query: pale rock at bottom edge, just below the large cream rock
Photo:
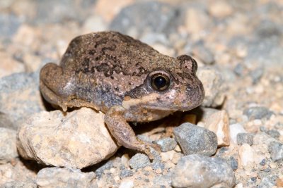
[[[93,172],[74,168],[43,168],[37,173],[36,183],[38,187],[98,187]]]

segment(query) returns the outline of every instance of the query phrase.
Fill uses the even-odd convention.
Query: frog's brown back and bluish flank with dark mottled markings
[[[132,37],[96,32],[76,37],[61,66],[76,80],[76,96],[99,108],[120,105],[125,93],[143,84],[155,62],[171,59]]]

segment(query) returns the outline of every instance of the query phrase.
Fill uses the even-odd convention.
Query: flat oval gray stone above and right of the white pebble
[[[269,119],[273,112],[263,106],[254,106],[246,108],[243,114],[247,115],[249,120],[255,120],[263,118]]]

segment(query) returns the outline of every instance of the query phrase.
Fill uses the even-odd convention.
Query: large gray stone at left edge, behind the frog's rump
[[[39,73],[16,73],[0,80],[0,127],[17,130],[32,115],[45,110]]]

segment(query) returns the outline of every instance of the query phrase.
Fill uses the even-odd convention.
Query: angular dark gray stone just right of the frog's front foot
[[[173,132],[186,155],[199,153],[204,156],[212,156],[216,152],[217,137],[212,131],[191,123],[183,123],[175,127]]]

